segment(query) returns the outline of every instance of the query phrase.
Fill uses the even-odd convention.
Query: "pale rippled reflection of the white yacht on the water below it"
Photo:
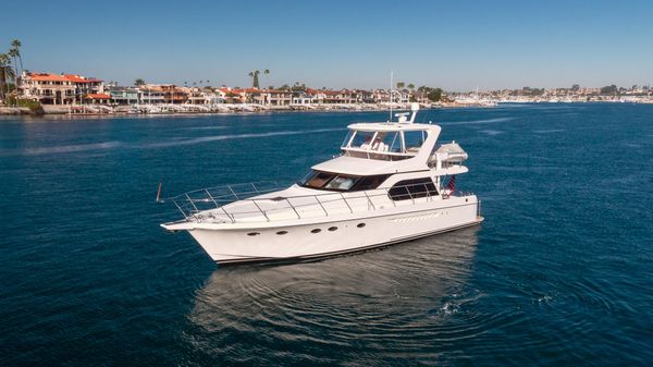
[[[232,362],[294,351],[333,362],[334,347],[419,351],[478,295],[465,289],[478,228],[323,261],[218,269],[197,292],[192,347]],[[337,360],[342,360],[338,355]],[[316,359],[317,358],[317,359]]]

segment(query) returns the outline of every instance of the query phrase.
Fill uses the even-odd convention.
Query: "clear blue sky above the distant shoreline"
[[[0,52],[132,85],[653,85],[653,1],[7,1]]]

